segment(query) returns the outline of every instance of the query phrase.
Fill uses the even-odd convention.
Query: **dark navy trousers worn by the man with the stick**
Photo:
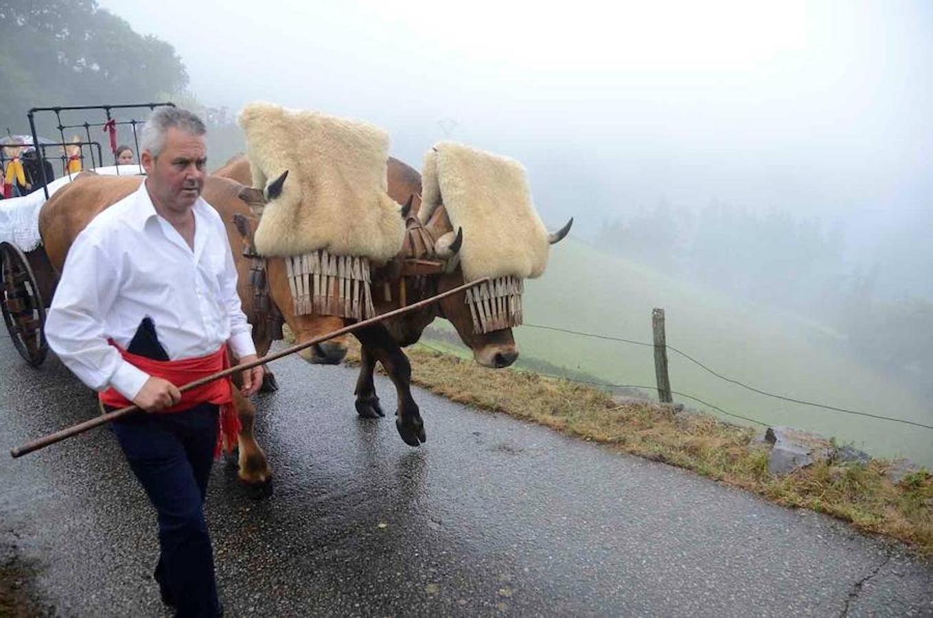
[[[220,611],[204,495],[214,462],[217,406],[176,414],[135,414],[112,423],[136,478],[159,513],[156,579],[176,616]]]

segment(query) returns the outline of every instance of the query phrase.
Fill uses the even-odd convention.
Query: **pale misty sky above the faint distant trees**
[[[99,4],[205,105],[368,119],[416,168],[447,137],[515,157],[551,228],[662,199],[839,220],[855,253],[933,225],[931,2]]]

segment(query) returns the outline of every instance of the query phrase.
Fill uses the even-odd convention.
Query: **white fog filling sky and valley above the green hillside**
[[[174,45],[202,105],[367,119],[415,168],[441,139],[516,158],[551,229],[933,397],[933,4],[100,5]]]

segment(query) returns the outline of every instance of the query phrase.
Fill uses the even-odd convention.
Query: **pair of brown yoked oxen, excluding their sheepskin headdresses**
[[[266,192],[250,187],[249,162],[240,156],[231,159],[213,176],[208,176],[203,190],[204,199],[216,208],[227,227],[239,275],[238,292],[243,302],[244,313],[253,325],[253,339],[260,356],[269,351],[276,336],[276,329],[270,326],[270,312],[274,313],[277,310],[277,315],[284,319],[298,343],[341,329],[353,321],[338,316],[296,315],[283,258],[263,260],[266,298],[256,293],[256,278],[251,274],[255,259],[249,257],[252,231],[256,227],[257,214],[275,197],[272,193],[282,190],[285,181],[284,175],[271,183]],[[58,190],[49,199],[39,216],[39,232],[49,260],[58,272],[62,272],[68,248],[91,218],[132,193],[139,187],[140,182],[140,176],[85,174]],[[402,252],[397,260],[393,261],[401,264],[413,258],[428,258],[446,263],[447,267],[439,268],[432,274],[408,276],[402,274],[401,268],[392,268],[392,262],[390,267],[378,269],[372,281],[372,297],[377,314],[384,314],[402,303],[417,302],[464,284],[463,273],[455,265],[455,254],[460,246],[462,232],[453,233],[451,220],[443,206],[437,208],[424,225],[417,217],[421,206],[421,176],[418,172],[403,162],[390,159],[388,193],[397,203],[406,204],[400,209],[400,216],[406,219],[409,234]],[[551,233],[550,242],[553,244],[564,238],[571,223],[572,219],[562,230]],[[417,235],[420,240],[412,241],[412,235]],[[425,239],[435,241],[433,246],[425,244]],[[412,255],[412,251],[415,255]],[[395,289],[397,293],[379,293],[383,288]],[[425,327],[435,317],[444,317],[453,323],[463,343],[473,350],[474,358],[484,367],[508,367],[518,358],[518,349],[511,329],[489,332],[474,330],[464,292],[403,316],[387,319],[376,326],[356,330],[354,335],[361,344],[360,372],[355,387],[356,412],[367,418],[384,415],[373,383],[373,371],[376,362],[379,361],[396,386],[398,433],[402,440],[411,446],[425,442],[425,427],[418,405],[411,397],[411,364],[401,347],[417,342]],[[314,344],[300,354],[309,362],[336,364],[341,362],[346,351],[347,342],[343,336],[322,344]],[[266,390],[274,390],[277,387],[272,373],[268,374],[263,386]],[[256,408],[249,400],[241,397],[236,389],[233,391],[234,403],[243,424],[238,444],[240,480],[253,487],[268,487],[272,480],[272,468],[253,434]]]

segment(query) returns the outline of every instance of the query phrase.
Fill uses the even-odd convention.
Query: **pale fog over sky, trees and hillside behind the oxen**
[[[204,113],[214,169],[265,100],[367,119],[415,168],[442,139],[508,155],[550,229],[576,219],[528,283],[520,364],[650,384],[645,349],[533,323],[644,341],[664,307],[668,343],[724,374],[929,424],[933,4],[606,4],[7,3],[0,128],[174,100]],[[933,461],[928,431],[677,363],[700,400]]]

